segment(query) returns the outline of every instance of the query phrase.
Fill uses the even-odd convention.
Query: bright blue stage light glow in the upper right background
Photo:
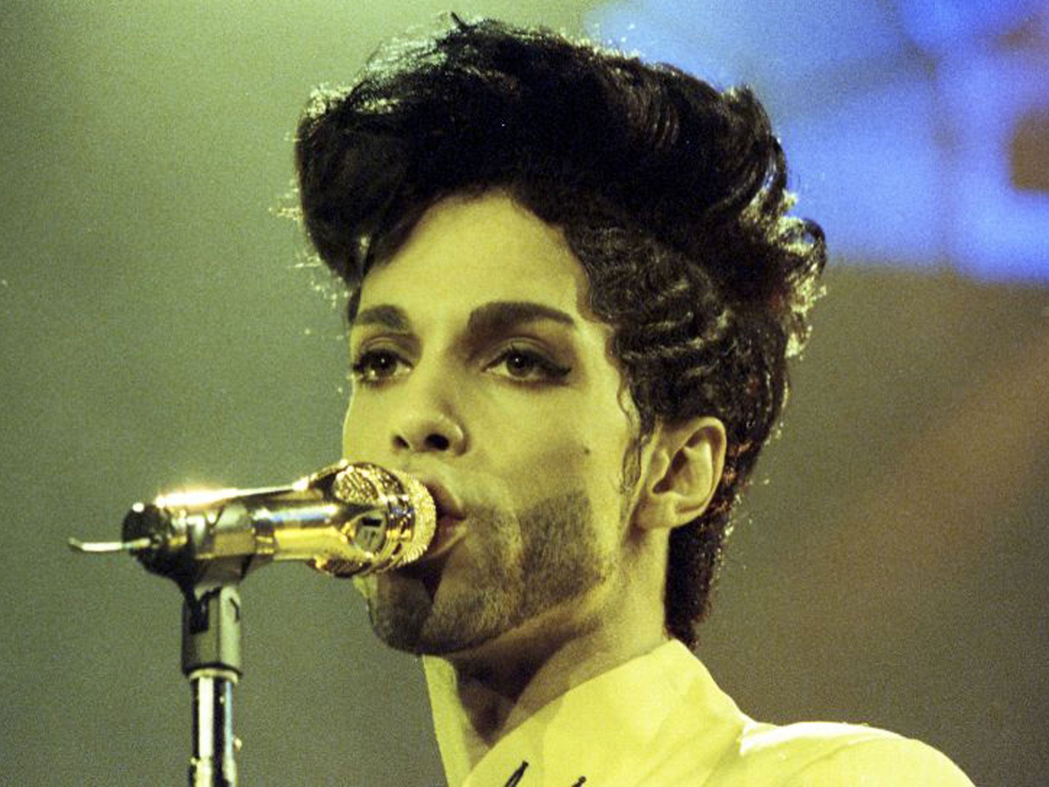
[[[587,21],[646,60],[752,85],[798,212],[847,261],[1049,282],[1049,193],[1031,186],[1049,170],[1031,121],[1049,115],[1044,3],[640,0]]]

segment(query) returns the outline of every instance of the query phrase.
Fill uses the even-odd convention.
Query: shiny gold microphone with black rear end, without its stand
[[[184,590],[242,579],[274,560],[335,576],[388,571],[422,557],[436,528],[426,487],[407,473],[341,462],[284,487],[164,494],[136,503],[122,540],[69,546],[130,552]]]

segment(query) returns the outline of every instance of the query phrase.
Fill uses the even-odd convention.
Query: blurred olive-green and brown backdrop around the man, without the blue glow
[[[338,458],[340,317],[274,215],[291,134],[313,85],[442,7],[0,12],[0,783],[184,783],[178,594],[65,538]],[[590,4],[517,8],[459,5],[575,30]],[[701,655],[755,718],[868,722],[978,784],[1043,784],[1049,294],[840,260],[828,280]],[[421,671],[349,583],[283,566],[242,598],[243,784],[442,782]]]

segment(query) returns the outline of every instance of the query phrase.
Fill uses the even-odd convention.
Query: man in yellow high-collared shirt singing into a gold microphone
[[[689,652],[825,263],[757,101],[452,19],[319,92],[296,149],[349,288],[345,456],[437,503],[427,555],[359,587],[424,656],[449,784],[969,784],[757,724]]]

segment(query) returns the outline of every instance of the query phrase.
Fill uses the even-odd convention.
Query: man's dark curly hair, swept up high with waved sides
[[[298,129],[301,215],[324,262],[360,285],[423,213],[500,189],[562,229],[640,416],[712,414],[725,470],[670,535],[665,626],[690,647],[730,511],[778,421],[786,359],[809,335],[823,235],[787,216],[783,149],[753,93],[591,42],[454,15],[374,55],[352,87],[314,92]]]

